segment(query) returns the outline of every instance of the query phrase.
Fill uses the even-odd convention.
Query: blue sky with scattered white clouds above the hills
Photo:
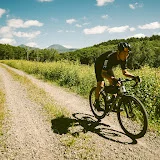
[[[83,48],[160,35],[160,0],[1,0],[0,43]]]

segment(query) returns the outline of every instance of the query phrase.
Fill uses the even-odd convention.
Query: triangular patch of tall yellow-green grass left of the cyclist
[[[95,85],[95,76],[93,68],[82,66],[72,62],[29,62],[29,61],[1,61],[11,67],[23,70],[29,74],[58,83],[75,92],[85,96],[89,90]]]

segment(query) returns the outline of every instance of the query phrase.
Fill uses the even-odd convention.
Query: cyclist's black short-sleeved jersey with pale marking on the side
[[[121,66],[122,70],[125,70],[127,68],[126,61],[117,60],[117,52],[112,51],[100,55],[96,59],[95,63],[95,65],[98,65],[99,68],[103,70],[110,70],[118,64]]]

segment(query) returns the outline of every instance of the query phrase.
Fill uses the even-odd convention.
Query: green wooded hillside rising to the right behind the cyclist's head
[[[75,52],[65,53],[61,57],[67,60],[78,60],[81,64],[91,65],[95,59],[109,50],[116,51],[120,42],[128,42],[131,45],[131,53],[128,58],[128,67],[138,69],[141,66],[160,66],[160,36],[153,35],[145,38],[116,39],[102,42],[92,47],[83,48]]]

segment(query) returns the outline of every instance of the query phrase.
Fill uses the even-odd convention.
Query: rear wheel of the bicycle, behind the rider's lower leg
[[[90,94],[89,94],[90,108],[91,108],[91,111],[93,112],[94,116],[97,119],[102,119],[105,117],[106,112],[107,112],[106,101],[105,101],[106,97],[103,94],[103,92],[100,92],[99,105],[100,105],[100,108],[102,109],[102,111],[98,111],[97,108],[95,107],[95,90],[96,90],[96,87],[93,87],[90,91]]]

